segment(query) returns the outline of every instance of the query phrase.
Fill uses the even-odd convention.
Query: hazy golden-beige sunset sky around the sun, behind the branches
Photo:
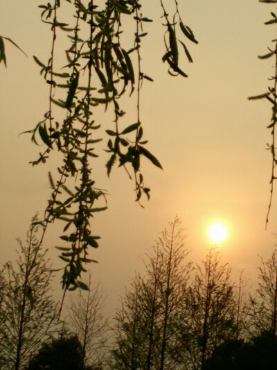
[[[169,2],[169,1],[168,1]],[[27,59],[6,44],[8,68],[0,65],[0,168],[1,168],[1,261],[15,257],[15,238],[24,239],[30,218],[42,212],[50,190],[47,172],[55,161],[32,167],[39,147],[29,135],[47,106],[48,87],[39,76],[32,56],[46,60],[51,35],[39,20],[41,1],[2,0],[0,35],[10,37],[28,54]],[[151,187],[145,209],[134,202],[134,185],[122,169],[107,179],[103,155],[93,165],[98,187],[109,190],[109,209],[96,215],[93,234],[101,235],[100,248],[91,249],[96,280],[107,288],[108,301],[116,305],[119,294],[143,266],[142,258],[159,232],[178,214],[186,229],[190,258],[199,262],[211,245],[207,227],[222,221],[229,238],[222,243],[222,258],[233,270],[242,267],[255,276],[257,255],[268,258],[277,233],[277,189],[269,225],[265,218],[269,203],[271,157],[266,144],[271,136],[266,126],[271,117],[267,101],[250,102],[247,96],[267,91],[272,60],[267,53],[276,38],[274,26],[264,26],[275,11],[274,4],[258,0],[181,0],[183,20],[193,28],[199,44],[188,44],[194,63],[185,62],[189,78],[172,78],[163,55],[162,14],[159,1],[145,0],[143,15],[155,20],[147,24],[143,47],[143,71],[154,83],[143,86],[141,121],[148,149],[159,158],[163,171],[145,161],[143,175]],[[157,22],[156,22],[157,21]],[[134,102],[126,101],[129,121],[135,121]],[[98,117],[111,128],[111,116]],[[53,263],[58,252],[60,228],[48,230],[44,246],[51,249]]]

